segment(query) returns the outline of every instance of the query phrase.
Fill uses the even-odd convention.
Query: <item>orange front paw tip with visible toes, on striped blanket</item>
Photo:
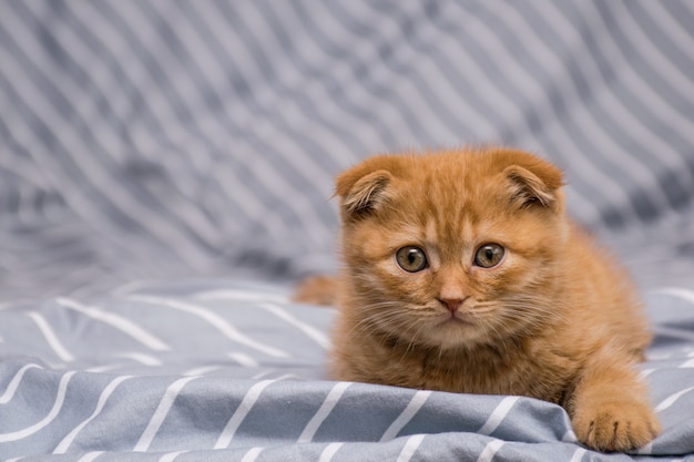
[[[572,424],[579,441],[599,451],[630,451],[657,437],[660,423],[649,404],[610,398],[576,407]]]

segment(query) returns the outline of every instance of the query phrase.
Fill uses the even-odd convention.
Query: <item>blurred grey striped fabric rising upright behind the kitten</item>
[[[0,300],[334,270],[333,178],[503,144],[694,287],[694,3],[0,3]]]

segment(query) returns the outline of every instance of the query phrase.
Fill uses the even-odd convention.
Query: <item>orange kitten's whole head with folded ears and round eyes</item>
[[[492,148],[376,156],[337,178],[347,316],[438,348],[529,333],[554,316],[562,174]]]

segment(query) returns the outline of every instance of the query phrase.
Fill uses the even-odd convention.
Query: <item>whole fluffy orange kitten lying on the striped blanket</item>
[[[625,451],[660,431],[633,367],[651,340],[604,249],[567,218],[562,174],[531,154],[376,156],[337,178],[333,378],[559,403],[579,440]]]

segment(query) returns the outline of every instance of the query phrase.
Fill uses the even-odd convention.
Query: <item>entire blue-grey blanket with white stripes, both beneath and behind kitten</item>
[[[694,6],[0,2],[0,460],[694,460]],[[513,145],[642,288],[663,433],[327,380],[340,170]]]

